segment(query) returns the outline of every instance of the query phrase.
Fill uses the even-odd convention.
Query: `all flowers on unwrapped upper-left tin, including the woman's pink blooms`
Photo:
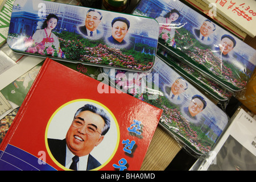
[[[148,71],[154,64],[154,55],[109,47],[102,40],[85,39],[71,32],[55,34],[59,38],[60,48],[64,52],[65,58],[71,61],[129,68],[136,71]],[[35,43],[32,37],[24,38],[23,46],[28,53],[59,56],[59,52],[54,46],[46,47],[43,44]]]

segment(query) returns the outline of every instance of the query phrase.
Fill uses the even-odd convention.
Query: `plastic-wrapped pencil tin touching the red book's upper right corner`
[[[115,88],[163,109],[159,125],[193,155],[208,154],[228,124],[228,115],[220,107],[158,55],[147,74],[103,71]]]

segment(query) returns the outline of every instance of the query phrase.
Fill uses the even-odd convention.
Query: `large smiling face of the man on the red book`
[[[76,118],[83,119],[85,125],[79,129],[73,125],[69,127],[66,135],[67,146],[77,156],[88,155],[103,140],[104,136],[100,133],[102,133],[105,122],[100,115],[88,110],[82,111]],[[88,135],[86,133],[86,125],[96,126],[99,133],[96,132],[94,135]]]

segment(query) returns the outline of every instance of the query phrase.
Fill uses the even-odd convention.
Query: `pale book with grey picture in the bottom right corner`
[[[216,146],[192,169],[199,171],[255,171],[256,121],[241,107],[230,120]]]

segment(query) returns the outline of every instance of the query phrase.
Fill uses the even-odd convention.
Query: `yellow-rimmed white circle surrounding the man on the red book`
[[[106,164],[108,164],[110,160],[112,160],[112,158],[114,157],[115,152],[117,152],[117,148],[120,140],[120,131],[119,131],[119,125],[118,125],[117,119],[115,118],[112,111],[110,111],[110,109],[108,109],[108,107],[106,107],[105,105],[94,100],[89,100],[89,99],[72,100],[61,105],[52,114],[51,118],[47,123],[46,133],[45,133],[45,143],[46,143],[47,152],[50,158],[53,160],[53,162],[57,164],[57,166],[59,166],[61,169],[71,170],[66,168],[62,164],[60,164],[53,157],[51,150],[49,149],[47,139],[48,138],[64,139],[69,127],[72,124],[73,117],[76,111],[80,107],[84,106],[85,104],[92,104],[96,107],[99,107],[100,109],[103,109],[105,113],[110,117],[110,129],[108,133],[105,134],[102,142],[98,144],[97,147],[94,147],[94,149],[90,152],[90,154],[93,155],[94,158],[96,158],[101,163],[100,167],[94,168],[92,169],[92,171],[97,171],[103,168],[104,166],[106,166]],[[102,155],[102,151],[104,151],[104,155]]]

